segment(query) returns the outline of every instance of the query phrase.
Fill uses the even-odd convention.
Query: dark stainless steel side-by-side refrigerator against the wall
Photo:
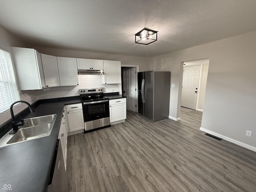
[[[138,72],[138,112],[156,122],[169,117],[169,71]]]

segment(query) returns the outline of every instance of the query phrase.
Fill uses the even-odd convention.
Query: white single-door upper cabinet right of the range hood
[[[121,83],[121,62],[104,60],[104,75],[102,84]]]

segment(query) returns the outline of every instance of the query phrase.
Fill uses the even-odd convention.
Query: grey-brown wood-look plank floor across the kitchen
[[[256,152],[199,130],[202,112],[68,136],[68,191],[256,192]]]

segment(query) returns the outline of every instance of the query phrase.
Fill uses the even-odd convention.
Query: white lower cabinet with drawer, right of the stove
[[[126,119],[126,98],[109,100],[110,124],[124,122]]]

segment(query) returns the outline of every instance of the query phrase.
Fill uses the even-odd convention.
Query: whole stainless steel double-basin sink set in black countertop
[[[49,136],[56,114],[24,119],[24,125],[15,133],[10,130],[0,139],[0,147]]]

